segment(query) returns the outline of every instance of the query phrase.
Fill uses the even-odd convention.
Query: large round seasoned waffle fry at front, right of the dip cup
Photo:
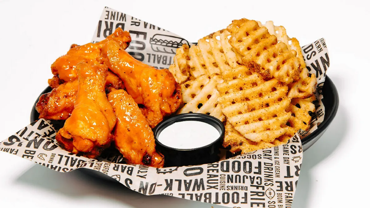
[[[276,78],[264,81],[245,66],[227,71],[224,82],[217,86],[218,103],[227,120],[245,138],[253,142],[273,142],[285,134],[282,127],[292,116],[285,109],[290,105],[288,87]]]

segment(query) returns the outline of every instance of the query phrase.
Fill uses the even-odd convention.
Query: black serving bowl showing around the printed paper
[[[44,91],[41,92],[39,97],[37,98],[36,102],[34,103],[32,110],[31,110],[31,117],[30,121],[31,123],[36,121],[38,119],[38,112],[36,111],[36,103],[38,102],[38,99],[40,96],[44,93],[48,93],[51,91],[50,87],[47,87]],[[324,134],[324,132],[327,130],[329,127],[330,123],[332,123],[337,110],[339,106],[339,96],[338,96],[338,91],[328,76],[325,78],[325,83],[322,88],[322,94],[324,96],[323,99],[323,104],[325,106],[325,117],[324,121],[317,127],[317,129],[307,137],[305,137],[302,140],[302,146],[303,146],[303,151],[307,150],[310,148],[319,138]],[[64,121],[51,121],[54,125],[54,128],[58,130],[59,128],[63,127]],[[97,178],[102,178],[105,180],[109,181],[116,181],[111,177],[108,177],[107,175],[100,174],[100,172],[93,171],[90,169],[85,169],[85,168],[80,168],[79,170],[83,171],[85,174],[90,175],[91,177],[97,177]]]

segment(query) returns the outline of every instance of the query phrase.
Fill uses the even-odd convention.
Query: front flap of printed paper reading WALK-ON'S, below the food
[[[0,150],[59,172],[88,168],[146,195],[165,194],[228,207],[290,207],[302,163],[299,136],[289,144],[213,164],[152,168],[81,157],[61,149],[50,121],[31,123],[0,144]]]

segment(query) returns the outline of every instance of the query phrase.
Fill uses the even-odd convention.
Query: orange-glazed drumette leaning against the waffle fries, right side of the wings
[[[115,41],[104,44],[98,60],[121,78],[137,104],[144,105],[142,114],[151,128],[181,104],[181,88],[168,69],[158,70],[136,60]]]

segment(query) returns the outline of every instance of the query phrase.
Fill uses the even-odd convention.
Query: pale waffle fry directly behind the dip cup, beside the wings
[[[221,106],[217,104],[219,93],[216,89],[216,85],[222,81],[218,74],[212,74],[210,77],[203,74],[182,84],[182,99],[185,105],[178,113],[203,113],[224,121]]]

